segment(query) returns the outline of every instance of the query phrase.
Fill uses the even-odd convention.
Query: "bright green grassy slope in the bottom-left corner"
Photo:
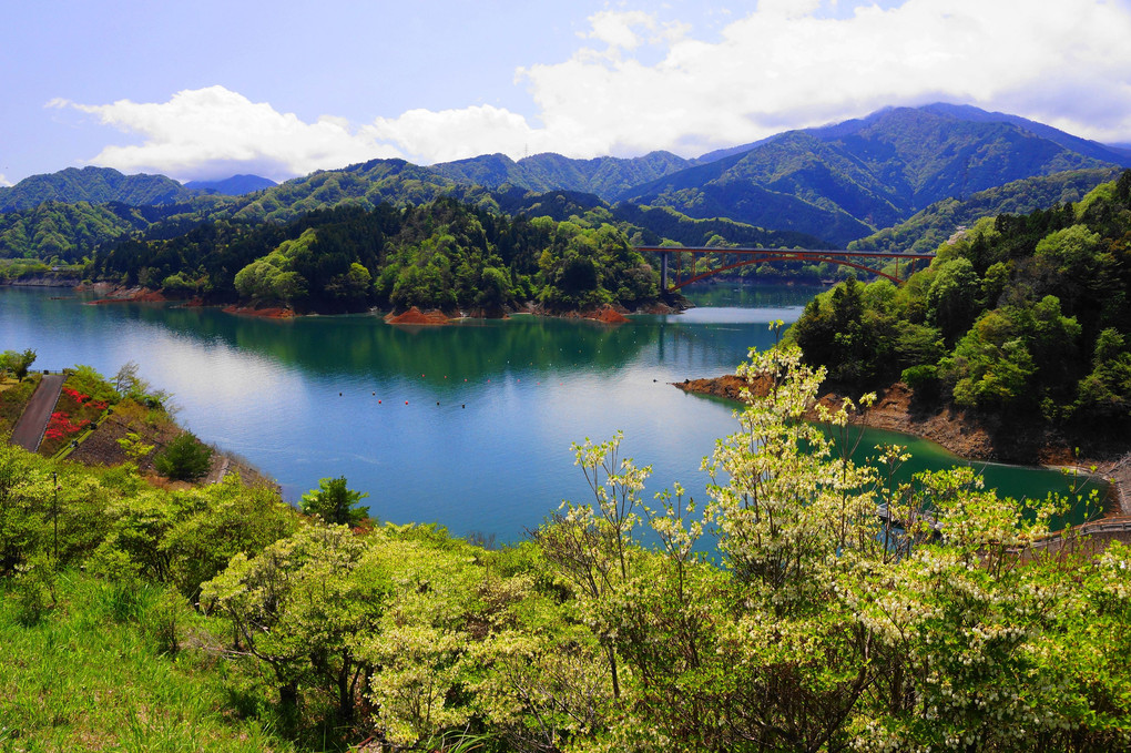
[[[187,605],[173,654],[159,589],[66,572],[55,594],[28,620],[14,581],[0,582],[0,751],[295,750],[274,732],[267,690],[208,650]]]

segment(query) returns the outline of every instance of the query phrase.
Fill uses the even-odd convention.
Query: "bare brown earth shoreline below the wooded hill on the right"
[[[734,374],[726,374],[673,382],[673,386],[684,392],[742,403],[740,391],[746,383]],[[845,392],[829,389],[818,398],[818,403],[831,408],[839,406],[845,397]],[[1112,510],[1105,511],[1104,517],[1131,516],[1131,448],[1105,452],[1093,449],[1078,457],[1073,447],[1051,430],[1045,430],[1036,440],[1003,443],[994,436],[994,427],[986,426],[964,410],[947,407],[933,413],[917,412],[912,404],[912,391],[903,382],[878,390],[875,403],[858,416],[867,427],[917,436],[969,460],[1069,469],[1099,476],[1110,484],[1113,502]]]

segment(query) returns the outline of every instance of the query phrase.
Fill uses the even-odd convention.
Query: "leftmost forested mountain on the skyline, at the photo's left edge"
[[[195,191],[164,175],[123,175],[111,167],[68,167],[0,188],[0,211],[29,209],[44,201],[120,201],[137,207],[185,201],[193,196]]]

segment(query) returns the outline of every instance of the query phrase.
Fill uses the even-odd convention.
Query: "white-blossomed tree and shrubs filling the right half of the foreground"
[[[748,405],[705,464],[706,504],[676,485],[657,510],[637,505],[651,552],[601,494],[556,521],[592,531],[547,559],[607,583],[579,591],[621,663],[618,701],[572,750],[1129,744],[1113,658],[1131,648],[1126,549],[1043,546],[1065,503],[1000,499],[969,469],[896,484],[901,449],[853,462],[854,406],[814,405],[823,374],[795,349],[751,353],[739,373]]]

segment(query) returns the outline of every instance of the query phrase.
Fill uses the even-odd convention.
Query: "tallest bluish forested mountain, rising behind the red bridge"
[[[714,153],[713,162],[621,198],[692,217],[797,230],[843,245],[944,198],[1068,170],[1131,165],[1102,145],[1033,124],[1038,133],[1024,119],[995,118],[949,105],[881,111],[783,133],[746,152]]]

